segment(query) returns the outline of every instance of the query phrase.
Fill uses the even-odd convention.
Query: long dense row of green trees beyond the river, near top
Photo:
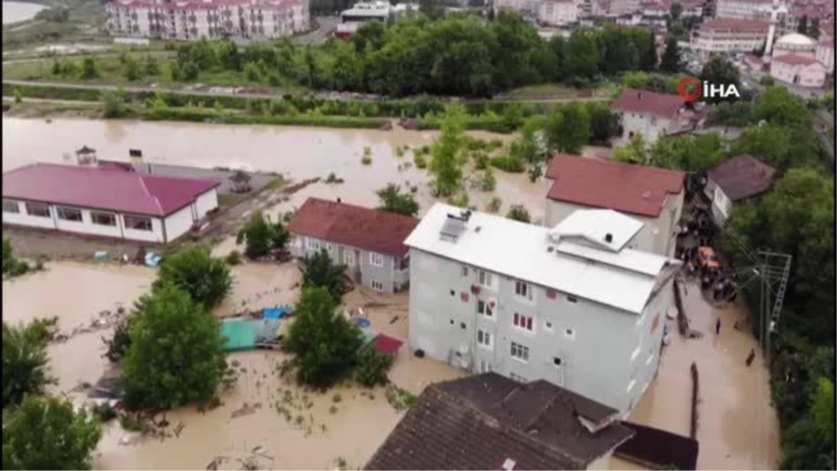
[[[579,28],[568,38],[541,39],[519,14],[486,23],[473,15],[430,21],[424,15],[392,26],[369,22],[351,40],[300,47],[290,40],[239,49],[229,42],[181,44],[170,67],[178,80],[234,70],[250,81],[392,96],[424,93],[490,96],[544,82],[588,85],[601,76],[655,70],[653,34],[642,28]]]

